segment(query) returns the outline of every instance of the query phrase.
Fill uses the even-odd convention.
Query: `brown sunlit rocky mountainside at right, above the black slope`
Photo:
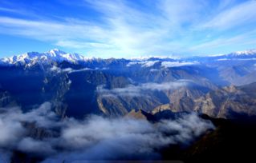
[[[226,86],[224,88],[198,93],[193,89],[179,89],[174,92],[169,105],[160,105],[152,113],[161,113],[165,110],[177,112],[205,113],[210,117],[234,118],[256,115],[256,83],[242,86]],[[185,91],[185,92],[184,92]],[[183,93],[186,93],[184,95]]]

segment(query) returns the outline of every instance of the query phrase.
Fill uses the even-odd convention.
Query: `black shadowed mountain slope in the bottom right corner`
[[[213,121],[217,128],[206,133],[181,154],[185,162],[250,162],[255,160],[255,117],[232,121],[204,117]]]

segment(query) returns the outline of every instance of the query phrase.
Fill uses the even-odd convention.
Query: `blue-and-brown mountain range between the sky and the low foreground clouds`
[[[0,107],[44,101],[60,117],[132,110],[253,116],[256,50],[190,58],[85,58],[61,50],[0,59]]]

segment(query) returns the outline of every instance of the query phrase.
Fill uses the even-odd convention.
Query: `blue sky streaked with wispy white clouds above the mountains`
[[[100,58],[250,50],[256,1],[0,1],[0,57],[54,48]]]

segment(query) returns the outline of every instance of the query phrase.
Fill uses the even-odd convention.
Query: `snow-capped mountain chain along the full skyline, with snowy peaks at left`
[[[28,52],[26,54],[20,54],[12,56],[10,58],[0,59],[1,65],[16,65],[16,66],[34,66],[36,63],[39,64],[51,64],[52,62],[70,62],[70,63],[85,63],[90,66],[106,66],[111,63],[123,62],[126,66],[140,65],[142,67],[151,67],[156,62],[168,62],[169,65],[175,64],[177,66],[188,66],[194,65],[191,63],[200,62],[218,62],[226,60],[255,60],[255,50],[237,51],[231,54],[219,54],[205,57],[193,57],[193,58],[169,58],[169,57],[142,57],[142,58],[127,58],[127,59],[102,59],[102,58],[87,58],[80,54],[69,54],[62,50],[50,50],[45,53],[39,52]],[[100,64],[100,65],[99,65]]]

